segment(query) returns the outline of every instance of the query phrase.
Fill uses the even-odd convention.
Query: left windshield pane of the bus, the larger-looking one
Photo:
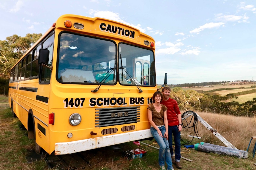
[[[95,84],[104,80],[104,83],[115,84],[116,68],[110,62],[115,60],[115,49],[113,41],[62,33],[59,41],[58,81]]]

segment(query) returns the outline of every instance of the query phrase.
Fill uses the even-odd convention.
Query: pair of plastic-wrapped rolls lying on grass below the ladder
[[[210,145],[213,145],[213,144],[210,144]],[[221,155],[235,156],[237,158],[248,158],[248,153],[244,150],[238,150],[238,149],[228,148],[228,147],[219,146],[219,145],[215,145],[215,146],[217,147],[208,146],[207,143],[203,143],[203,145],[195,144],[194,148],[195,150],[217,153]]]

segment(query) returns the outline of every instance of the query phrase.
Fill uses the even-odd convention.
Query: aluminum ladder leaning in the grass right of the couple
[[[194,115],[192,111],[187,111],[185,114],[183,114],[182,120],[187,119],[189,116]],[[233,146],[230,142],[228,142],[222,135],[220,135],[217,132],[217,129],[213,129],[203,118],[201,118],[197,113],[197,120],[199,120],[210,132],[212,132],[220,141],[222,141],[228,148],[237,149],[235,146]]]

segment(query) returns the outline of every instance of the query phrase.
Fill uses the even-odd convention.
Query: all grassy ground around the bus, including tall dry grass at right
[[[44,159],[28,163],[26,156],[34,148],[34,141],[29,140],[26,136],[26,130],[19,128],[20,121],[12,118],[11,110],[8,108],[8,98],[0,95],[0,169],[4,170],[48,170],[47,163]],[[183,113],[183,112],[182,112]],[[213,128],[225,137],[230,143],[238,149],[246,150],[249,139],[252,135],[256,135],[256,119],[246,117],[234,117],[228,115],[217,115],[208,113],[197,113]],[[242,127],[242,128],[241,128]],[[198,123],[198,136],[201,139],[188,137],[193,135],[194,129],[189,128],[182,130],[182,139],[196,144],[200,142],[207,142],[216,145],[223,145],[206,127]],[[155,147],[153,141],[142,141]],[[252,148],[255,141],[249,148],[248,158],[238,159],[233,156],[219,155],[215,153],[206,153],[194,150],[193,148],[181,148],[181,156],[192,160],[192,162],[181,159],[183,170],[255,170],[256,157],[252,158]],[[184,144],[184,143],[183,143]],[[117,145],[119,149],[109,150],[106,148],[99,148],[96,150],[86,151],[88,165],[81,169],[88,170],[158,170],[158,150],[144,145],[133,145],[132,142]],[[147,151],[146,156],[134,160],[128,160],[121,156],[122,151],[140,148]],[[70,168],[71,170],[72,168]],[[174,169],[177,168],[174,165]]]

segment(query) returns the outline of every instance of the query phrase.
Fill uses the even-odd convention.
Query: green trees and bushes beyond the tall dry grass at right
[[[178,102],[181,110],[185,111],[205,111],[248,117],[253,117],[256,114],[256,98],[239,104],[237,101],[233,101],[238,97],[232,93],[222,96],[214,92],[183,90],[181,87],[175,87],[171,91],[170,97]]]

